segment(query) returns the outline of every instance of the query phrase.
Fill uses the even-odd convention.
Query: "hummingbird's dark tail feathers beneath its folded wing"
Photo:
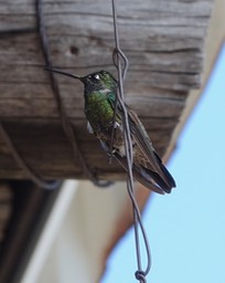
[[[128,170],[127,168],[127,159],[121,157],[119,154],[115,153],[115,157],[120,163],[120,165]],[[137,179],[140,184],[142,184],[148,189],[156,191],[160,195],[164,195],[165,192],[170,193],[171,189],[163,181],[163,179],[157,174],[142,166],[132,165],[132,172],[135,179]]]

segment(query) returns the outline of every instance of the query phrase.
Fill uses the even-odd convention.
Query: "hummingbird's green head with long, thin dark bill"
[[[85,85],[85,94],[88,94],[93,91],[100,91],[100,90],[111,91],[111,90],[115,90],[117,86],[117,81],[115,80],[115,77],[109,72],[104,70],[92,73],[86,76],[78,76],[72,73],[67,73],[67,72],[56,70],[56,69],[51,69],[51,67],[45,67],[44,70],[79,80]]]

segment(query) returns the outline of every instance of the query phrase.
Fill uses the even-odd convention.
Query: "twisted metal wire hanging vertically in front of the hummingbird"
[[[128,59],[126,57],[126,55],[124,54],[124,52],[121,51],[121,49],[119,46],[119,34],[118,34],[118,27],[117,27],[117,9],[116,9],[115,0],[111,0],[111,4],[113,4],[113,18],[114,18],[115,45],[116,45],[114,54],[113,54],[113,61],[118,71],[118,90],[117,90],[117,96],[116,96],[114,124],[116,120],[116,115],[117,115],[118,104],[119,104],[120,108],[122,109],[124,139],[125,139],[125,150],[126,150],[127,167],[128,167],[127,188],[128,188],[128,193],[131,199],[132,210],[133,210],[136,254],[137,254],[137,264],[138,264],[138,270],[136,271],[135,275],[139,282],[146,283],[147,282],[146,276],[151,269],[151,255],[150,255],[150,247],[149,247],[148,237],[147,237],[147,233],[146,233],[142,220],[141,220],[141,213],[140,213],[140,210],[139,210],[138,203],[136,201],[136,197],[135,197],[133,176],[132,176],[132,160],[133,160],[132,140],[131,140],[131,135],[130,135],[128,113],[127,113],[126,105],[124,103],[124,80],[126,77],[126,73],[128,70]],[[121,63],[124,63],[124,67],[122,67]],[[115,127],[113,126],[113,129]],[[113,143],[114,143],[114,130],[113,130],[111,138],[110,138],[109,155],[113,154]],[[147,268],[144,271],[142,270],[142,264],[141,264],[139,228],[140,228],[141,234],[142,234],[146,253],[147,253]]]

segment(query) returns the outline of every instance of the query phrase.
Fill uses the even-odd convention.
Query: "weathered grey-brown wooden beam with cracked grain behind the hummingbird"
[[[111,63],[110,1],[43,1],[54,66],[76,74]],[[163,155],[189,91],[201,85],[204,40],[213,1],[126,0],[118,3],[120,44],[130,67],[126,101],[137,111]],[[36,27],[35,1],[0,3],[0,120],[18,150],[45,178],[86,178],[60,122]],[[66,114],[87,164],[103,179],[121,179],[98,142],[86,130],[83,86],[55,76]],[[0,178],[26,178],[0,137]]]

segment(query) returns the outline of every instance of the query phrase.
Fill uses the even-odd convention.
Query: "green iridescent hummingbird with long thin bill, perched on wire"
[[[100,140],[103,148],[109,151],[114,130],[113,154],[127,170],[124,142],[122,112],[119,105],[114,120],[118,83],[107,71],[99,71],[86,76],[77,76],[61,70],[45,67],[46,71],[71,76],[84,84],[85,115],[87,129]],[[133,149],[133,177],[144,187],[158,192],[170,193],[175,181],[154,150],[137,114],[126,105]]]

